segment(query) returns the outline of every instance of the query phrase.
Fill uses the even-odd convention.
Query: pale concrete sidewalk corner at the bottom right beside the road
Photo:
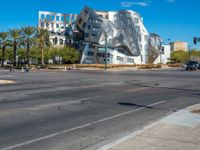
[[[99,150],[200,150],[200,105],[173,113]]]

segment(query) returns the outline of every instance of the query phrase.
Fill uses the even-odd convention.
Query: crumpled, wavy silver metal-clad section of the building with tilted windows
[[[77,28],[88,43],[81,63],[104,63],[105,47],[110,56],[108,63],[148,62],[149,33],[142,17],[134,11],[95,11],[85,7],[77,18]]]

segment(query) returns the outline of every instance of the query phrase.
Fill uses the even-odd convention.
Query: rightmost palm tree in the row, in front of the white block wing
[[[50,45],[49,32],[46,29],[37,29],[37,44],[41,49],[41,64],[44,66],[44,48]]]

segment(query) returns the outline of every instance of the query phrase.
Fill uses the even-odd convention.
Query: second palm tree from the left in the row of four
[[[10,29],[9,30],[10,33],[10,37],[12,39],[12,46],[13,46],[13,53],[14,53],[14,62],[13,62],[13,66],[16,66],[16,58],[17,58],[17,44],[21,38],[20,36],[20,30],[18,29]]]

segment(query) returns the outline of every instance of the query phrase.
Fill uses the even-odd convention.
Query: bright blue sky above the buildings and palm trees
[[[77,14],[85,5],[97,10],[134,10],[144,18],[147,30],[163,40],[192,45],[193,37],[200,37],[200,0],[1,0],[0,31],[36,26],[39,10]]]

